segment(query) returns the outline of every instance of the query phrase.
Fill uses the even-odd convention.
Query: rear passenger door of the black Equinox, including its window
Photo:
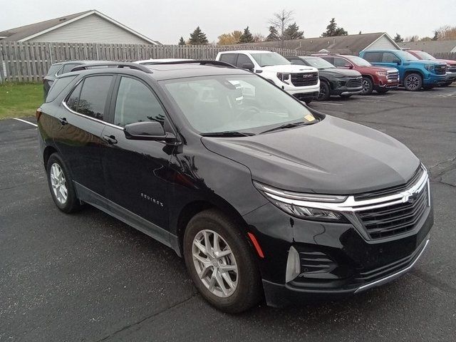
[[[73,180],[101,196],[105,195],[105,182],[100,150],[107,144],[101,133],[113,79],[106,74],[83,78],[63,101],[54,136]]]

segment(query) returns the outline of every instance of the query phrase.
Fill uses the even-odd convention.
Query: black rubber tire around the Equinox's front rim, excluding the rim
[[[213,294],[199,278],[193,258],[193,242],[203,230],[219,234],[227,242],[237,264],[237,286],[227,297]],[[212,239],[214,235],[212,235]],[[209,237],[209,240],[211,238]],[[212,243],[212,242],[209,242]],[[237,314],[251,309],[262,298],[261,277],[252,248],[236,225],[221,212],[208,209],[199,212],[187,224],[184,234],[184,259],[199,293],[220,311]],[[197,249],[198,250],[198,249]],[[230,254],[231,255],[231,254]],[[217,264],[217,262],[215,263]],[[212,267],[212,266],[210,266]],[[212,271],[214,267],[212,267]],[[207,274],[210,273],[210,270]]]

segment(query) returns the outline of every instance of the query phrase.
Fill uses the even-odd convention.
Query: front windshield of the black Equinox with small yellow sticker
[[[199,133],[261,133],[288,123],[316,121],[298,100],[255,75],[161,81],[167,95]]]

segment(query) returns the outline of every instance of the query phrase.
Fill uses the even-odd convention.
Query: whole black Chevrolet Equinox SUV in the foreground
[[[427,171],[397,140],[227,63],[109,66],[58,77],[37,110],[53,200],[171,247],[218,309],[358,293],[423,253]]]

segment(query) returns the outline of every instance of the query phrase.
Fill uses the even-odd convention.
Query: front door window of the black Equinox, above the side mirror
[[[125,126],[142,121],[157,121],[163,125],[165,110],[144,83],[123,77],[115,100],[114,124]]]

